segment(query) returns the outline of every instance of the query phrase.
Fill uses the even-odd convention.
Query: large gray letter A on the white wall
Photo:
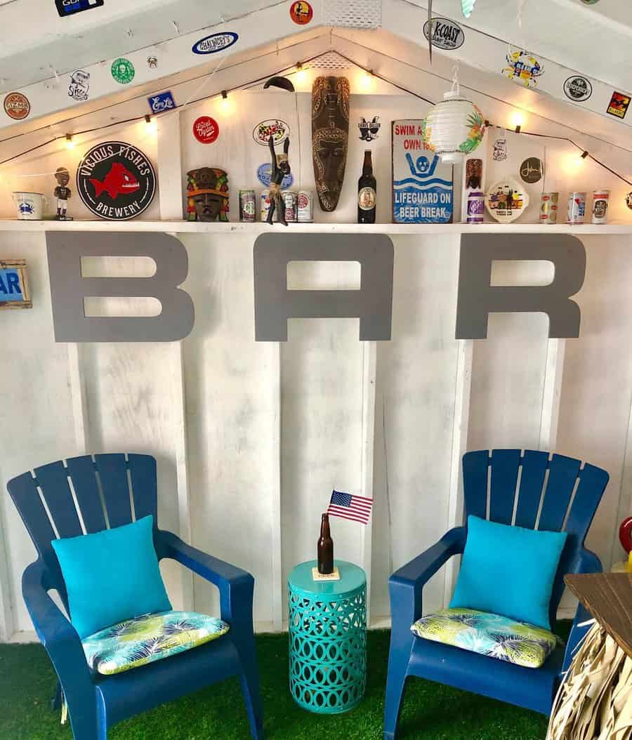
[[[262,234],[255,241],[255,339],[286,342],[289,318],[360,318],[360,340],[389,340],[393,243],[381,234]],[[359,262],[360,290],[288,290],[289,262]]]

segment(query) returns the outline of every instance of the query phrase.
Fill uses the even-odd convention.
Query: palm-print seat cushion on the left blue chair
[[[183,653],[218,639],[229,626],[191,611],[163,611],[119,622],[81,641],[90,669],[104,676]]]

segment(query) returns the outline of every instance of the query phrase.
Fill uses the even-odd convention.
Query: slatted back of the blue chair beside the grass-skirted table
[[[584,545],[609,475],[602,468],[548,452],[479,450],[463,455],[465,514],[528,529],[565,531],[551,595],[551,624]],[[517,574],[520,577],[520,574]]]

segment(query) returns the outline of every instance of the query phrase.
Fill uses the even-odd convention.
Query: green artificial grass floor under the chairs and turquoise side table
[[[560,626],[560,625],[559,625]],[[558,633],[568,631],[561,627]],[[369,632],[366,696],[351,712],[317,715],[295,704],[288,690],[287,635],[257,637],[261,693],[269,740],[382,739],[389,632]],[[491,659],[490,659],[491,660]],[[138,670],[142,670],[138,669]],[[53,667],[40,645],[0,645],[0,739],[72,740],[50,710]],[[542,715],[412,679],[400,740],[543,740]],[[118,724],[109,740],[247,740],[246,710],[236,679]]]

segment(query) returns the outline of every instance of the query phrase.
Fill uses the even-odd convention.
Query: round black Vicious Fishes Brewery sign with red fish
[[[77,190],[85,206],[110,221],[127,221],[152,202],[154,168],[147,155],[123,141],[106,141],[86,152],[77,167]]]

